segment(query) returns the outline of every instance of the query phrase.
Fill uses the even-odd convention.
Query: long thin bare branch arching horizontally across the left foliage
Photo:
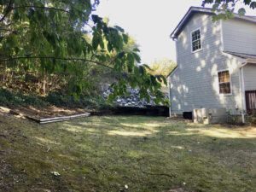
[[[63,57],[55,57],[55,56],[18,56],[18,57],[12,57],[4,60],[0,60],[0,62],[5,61],[14,61],[14,60],[20,60],[20,59],[52,59],[52,60],[63,60],[63,61],[87,61],[91,63],[95,63],[96,65],[102,66],[102,67],[108,67],[109,69],[113,70],[113,67],[109,67],[101,62],[98,61],[91,61],[83,58],[63,58]]]

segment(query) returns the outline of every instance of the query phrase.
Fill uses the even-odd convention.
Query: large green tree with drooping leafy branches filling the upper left
[[[0,65],[26,72],[36,71],[49,78],[58,74],[79,96],[91,88],[84,78],[86,66],[96,65],[114,71],[119,77],[112,84],[112,101],[127,93],[128,84],[139,87],[141,97],[156,96],[155,102],[167,103],[160,92],[163,76],[146,72],[140,63],[139,49],[125,49],[128,35],[119,26],[108,26],[98,15],[97,0],[2,0],[0,2]],[[89,26],[90,30],[86,30]],[[86,34],[92,33],[91,41]],[[104,41],[107,42],[104,44]]]

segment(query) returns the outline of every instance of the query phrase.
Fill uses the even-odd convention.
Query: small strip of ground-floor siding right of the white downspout
[[[247,64],[243,73],[245,90],[256,90],[256,64]]]

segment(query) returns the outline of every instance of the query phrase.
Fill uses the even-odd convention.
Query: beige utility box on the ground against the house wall
[[[225,108],[194,108],[194,123],[200,124],[224,124],[227,122]]]

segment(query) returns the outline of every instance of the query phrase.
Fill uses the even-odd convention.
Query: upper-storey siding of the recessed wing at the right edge
[[[256,55],[256,20],[223,20],[224,51]]]

